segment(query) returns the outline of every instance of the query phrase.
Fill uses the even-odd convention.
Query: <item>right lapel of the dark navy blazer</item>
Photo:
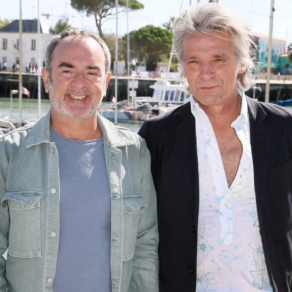
[[[261,221],[263,202],[265,199],[271,132],[262,124],[266,117],[266,112],[253,99],[247,97],[247,102],[250,120],[250,139],[254,165],[257,211],[259,221]]]

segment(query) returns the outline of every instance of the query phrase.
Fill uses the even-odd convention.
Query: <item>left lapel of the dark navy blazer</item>
[[[179,113],[182,122],[175,128],[180,161],[185,183],[193,207],[194,222],[197,222],[199,209],[198,158],[196,146],[195,119],[187,103]]]

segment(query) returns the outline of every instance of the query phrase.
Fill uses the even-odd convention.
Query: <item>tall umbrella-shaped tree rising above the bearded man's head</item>
[[[126,0],[118,1],[119,8],[126,7]],[[115,14],[115,0],[71,0],[71,7],[79,12],[86,12],[87,16],[94,15],[99,35],[103,38],[102,24],[110,15]],[[144,6],[136,0],[128,0],[131,10],[143,9]]]

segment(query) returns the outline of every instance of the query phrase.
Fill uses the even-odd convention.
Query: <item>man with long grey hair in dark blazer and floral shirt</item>
[[[190,102],[145,121],[160,292],[292,291],[292,116],[245,96],[249,25],[218,4],[175,21]]]

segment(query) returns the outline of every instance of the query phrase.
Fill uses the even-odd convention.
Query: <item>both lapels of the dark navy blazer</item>
[[[270,130],[262,122],[266,117],[265,111],[259,104],[247,97],[250,119],[251,149],[254,165],[254,183],[258,217],[261,220],[265,185],[268,171],[270,152]],[[198,158],[196,145],[195,119],[187,103],[180,111],[182,122],[175,128],[176,142],[179,148],[180,160],[184,172],[185,183],[193,207],[194,221],[197,222],[199,208]],[[192,153],[194,155],[192,155]]]

